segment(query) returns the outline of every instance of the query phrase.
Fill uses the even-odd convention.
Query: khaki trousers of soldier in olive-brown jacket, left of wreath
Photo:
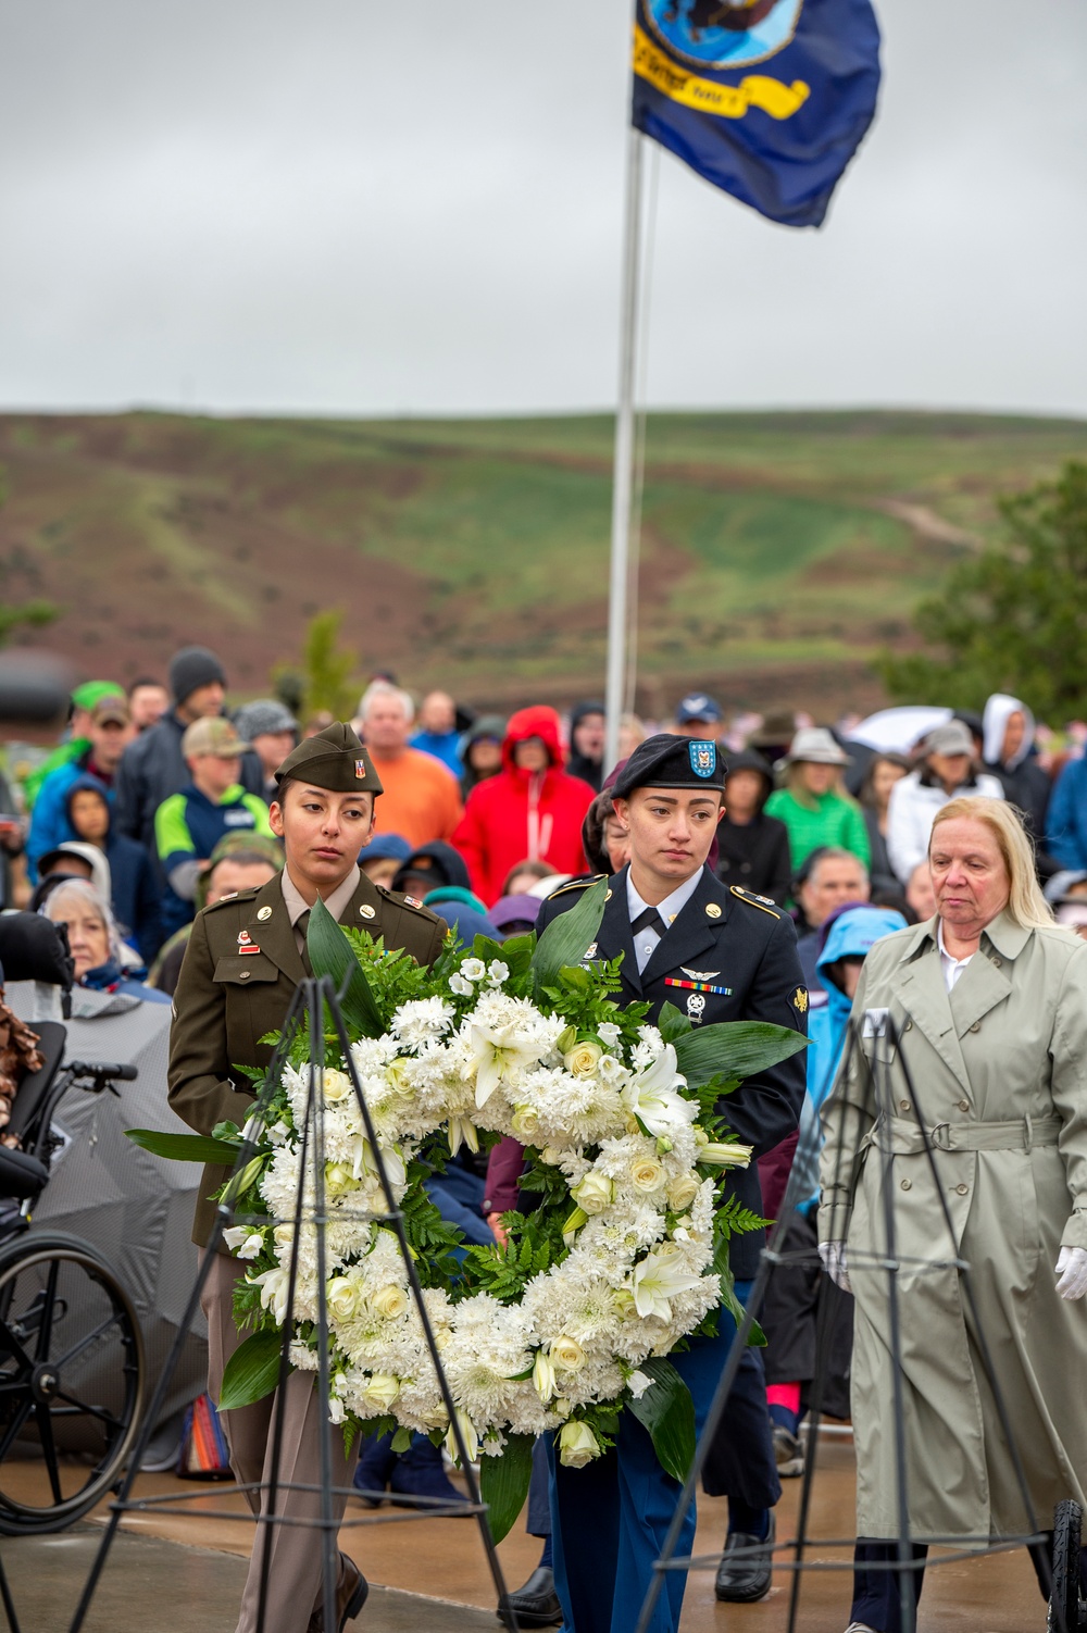
[[[237,1259],[224,1253],[214,1254],[201,1308],[207,1318],[207,1390],[219,1399],[222,1373],[227,1360],[243,1339],[233,1321],[233,1285],[242,1274]],[[222,1414],[222,1424],[230,1445],[230,1466],[240,1484],[268,1484],[271,1478],[273,1411],[279,1391]],[[279,1483],[320,1486],[320,1408],[312,1373],[292,1372],[287,1378],[279,1458]],[[344,1457],[343,1434],[331,1426],[331,1475],[335,1486],[349,1486],[357,1452]],[[268,1491],[248,1491],[253,1514],[268,1511]],[[343,1519],[344,1497],[333,1497],[336,1520]],[[279,1491],[276,1514],[289,1519],[320,1520],[320,1491]],[[271,1561],[268,1571],[268,1599],[264,1605],[264,1633],[305,1633],[310,1613],[322,1599],[322,1532],[312,1525],[258,1525],[250,1560],[250,1574],[242,1595],[242,1615],[237,1633],[256,1633],[256,1607],[261,1591],[261,1560],[264,1532],[271,1530]]]

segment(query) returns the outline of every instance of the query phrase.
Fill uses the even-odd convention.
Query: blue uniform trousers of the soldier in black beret
[[[749,1282],[738,1282],[744,1300]],[[728,1360],[736,1326],[721,1310],[720,1333],[697,1337],[690,1349],[669,1355],[685,1378],[700,1435],[718,1378]],[[746,1489],[752,1507],[772,1507],[780,1496],[765,1408],[765,1383],[757,1352],[748,1349],[725,1408],[723,1426],[736,1445],[738,1462],[751,1450],[756,1475]],[[681,1486],[656,1460],[653,1440],[632,1413],[619,1421],[615,1450],[586,1468],[563,1468],[547,1437],[552,1471],[552,1543],[555,1589],[563,1607],[563,1633],[633,1633],[641,1602],[661,1556],[664,1537],[679,1501]],[[690,1555],[695,1509],[690,1504],[676,1553]],[[653,1633],[677,1633],[687,1574],[666,1571],[656,1602]]]

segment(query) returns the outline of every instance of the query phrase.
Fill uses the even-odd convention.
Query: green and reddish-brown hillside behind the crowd
[[[162,673],[189,640],[266,687],[343,606],[359,674],[473,702],[604,678],[610,416],[0,416],[5,599],[44,643]],[[638,704],[878,705],[867,660],[996,527],[996,496],[1087,457],[1087,423],[924,413],[676,413],[646,433]]]

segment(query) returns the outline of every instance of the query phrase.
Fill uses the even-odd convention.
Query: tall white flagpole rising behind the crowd
[[[633,397],[638,335],[638,258],[641,251],[641,132],[627,134],[627,206],[623,222],[623,283],[619,330],[619,412],[615,415],[615,474],[612,487],[612,567],[607,604],[607,732],[604,769],[619,759],[619,722],[627,671],[627,585],[633,488]]]

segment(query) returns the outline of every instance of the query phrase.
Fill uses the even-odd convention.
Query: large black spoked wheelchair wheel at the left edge
[[[0,1535],[64,1530],[129,1453],[144,1339],[109,1266],[73,1236],[0,1251]],[[28,1462],[29,1460],[29,1462]]]

